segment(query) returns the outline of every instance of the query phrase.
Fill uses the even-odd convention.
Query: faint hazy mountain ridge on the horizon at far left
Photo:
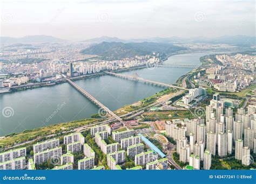
[[[0,37],[0,43],[57,43],[63,42],[65,40],[59,39],[52,36],[45,35],[36,35],[36,36],[26,36],[21,38],[13,38],[13,37]]]

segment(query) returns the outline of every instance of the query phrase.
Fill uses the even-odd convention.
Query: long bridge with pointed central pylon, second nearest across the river
[[[136,73],[134,74],[134,76],[117,74],[117,73],[112,73],[112,72],[105,72],[105,73],[113,75],[113,76],[121,77],[123,79],[130,79],[130,80],[133,80],[133,81],[141,81],[141,82],[144,82],[144,83],[154,84],[154,85],[157,85],[157,86],[188,90],[187,88],[174,86],[172,84],[166,84],[166,83],[163,83],[163,82],[157,82],[157,81],[151,81],[151,80],[143,79],[142,77],[139,77]]]

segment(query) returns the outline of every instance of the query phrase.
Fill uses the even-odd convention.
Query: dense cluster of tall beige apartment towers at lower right
[[[166,121],[166,135],[177,141],[179,160],[193,169],[211,168],[212,156],[235,154],[242,165],[250,165],[251,153],[256,153],[256,106],[240,108],[233,117],[233,109],[226,108],[218,94],[206,106],[203,118]]]

